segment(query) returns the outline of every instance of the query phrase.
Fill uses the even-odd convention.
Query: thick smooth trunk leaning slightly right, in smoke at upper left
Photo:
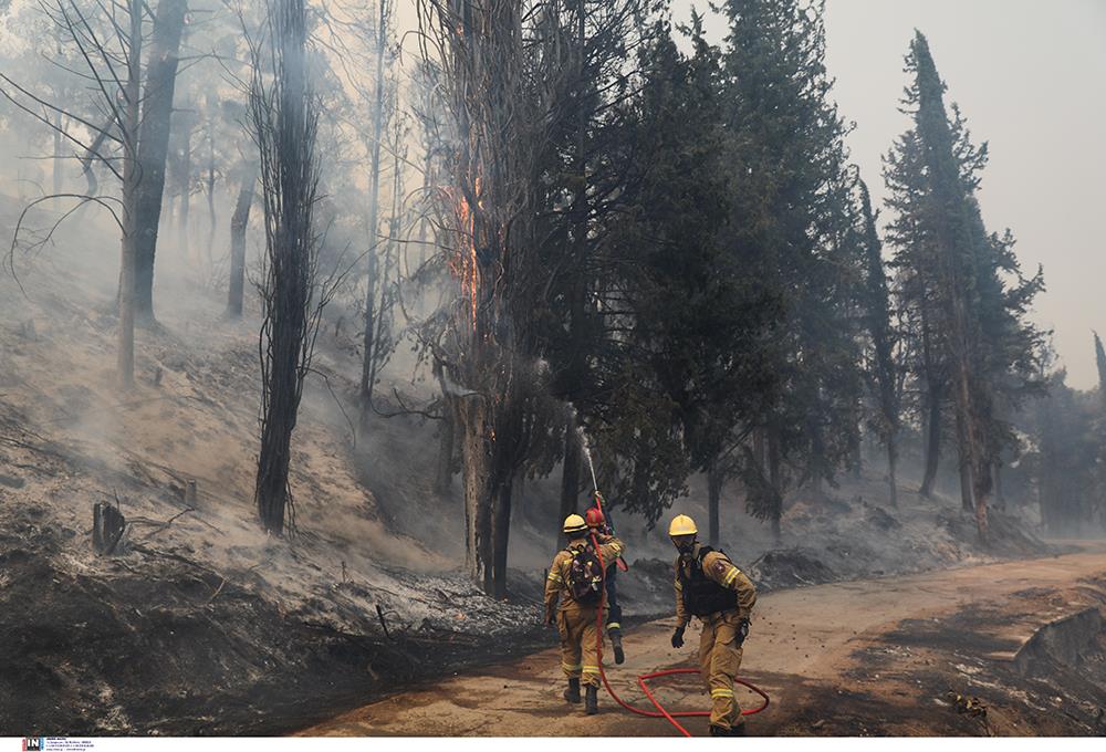
[[[161,196],[165,194],[165,160],[169,153],[169,122],[177,82],[180,35],[187,11],[187,0],[158,2],[146,64],[138,139],[142,177],[138,189],[134,294],[135,314],[147,322],[154,318],[154,255],[157,248],[157,226],[161,217]]]

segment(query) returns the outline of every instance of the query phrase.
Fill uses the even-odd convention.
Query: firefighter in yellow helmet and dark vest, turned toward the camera
[[[668,535],[680,552],[676,560],[676,631],[672,647],[684,647],[684,630],[692,616],[702,623],[699,669],[710,690],[712,737],[743,737],[744,719],[733,697],[733,677],[741,667],[742,644],[757,603],[757,587],[729,557],[696,540],[695,520],[672,518]]]

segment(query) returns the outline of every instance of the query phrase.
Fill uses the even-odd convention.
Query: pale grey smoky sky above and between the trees
[[[726,22],[707,2],[675,0],[675,20],[692,6],[720,42]],[[880,157],[908,127],[902,56],[915,29],[929,39],[947,102],[989,143],[988,229],[1013,231],[1025,273],[1043,264],[1034,318],[1055,331],[1068,384],[1093,386],[1091,331],[1106,335],[1106,0],[828,0],[825,21],[834,98],[877,201]]]

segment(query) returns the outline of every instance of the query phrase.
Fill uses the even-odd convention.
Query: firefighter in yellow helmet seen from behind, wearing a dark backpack
[[[603,534],[595,534],[597,547],[593,546],[587,522],[578,514],[565,518],[563,531],[568,545],[553,557],[545,579],[545,625],[555,623],[561,633],[561,668],[568,678],[564,699],[580,702],[583,683],[584,707],[592,716],[598,711],[599,633],[595,626],[605,600],[603,570],[614,564],[625,547],[617,537]]]

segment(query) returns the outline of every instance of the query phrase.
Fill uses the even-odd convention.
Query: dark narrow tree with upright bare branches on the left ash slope
[[[254,501],[261,524],[280,535],[294,530],[289,488],[292,430],[311,366],[319,311],[313,307],[317,246],[312,211],[317,109],[306,76],[304,0],[270,0],[270,44],[254,48],[250,122],[260,158],[267,275],[261,327],[261,451]],[[272,72],[272,81],[265,74]]]

